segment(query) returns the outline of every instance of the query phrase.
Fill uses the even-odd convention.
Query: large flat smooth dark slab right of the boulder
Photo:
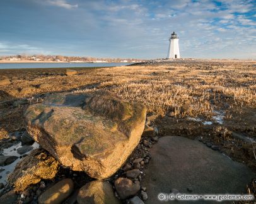
[[[176,188],[186,193],[188,186],[193,186],[194,194],[243,194],[245,186],[255,178],[245,164],[185,137],[161,137],[150,154],[151,161],[141,183],[147,186],[150,195],[147,204],[159,203],[160,192],[170,193],[170,188]]]

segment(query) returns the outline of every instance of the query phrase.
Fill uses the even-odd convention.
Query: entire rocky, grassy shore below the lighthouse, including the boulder
[[[0,203],[255,195],[252,63],[184,60],[23,72],[0,72]],[[219,76],[225,81],[217,83]],[[194,95],[184,99],[188,93]],[[199,108],[197,98],[209,107]]]

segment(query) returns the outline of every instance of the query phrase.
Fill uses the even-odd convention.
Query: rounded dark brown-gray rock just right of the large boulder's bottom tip
[[[139,186],[138,183],[133,183],[132,180],[129,180],[128,178],[120,177],[115,180],[115,190],[117,190],[121,199],[136,195],[140,188],[141,186]]]

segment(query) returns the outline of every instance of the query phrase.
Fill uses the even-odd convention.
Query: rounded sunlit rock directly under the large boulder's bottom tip
[[[80,188],[77,199],[79,204],[120,204],[113,188],[107,181],[91,181]]]

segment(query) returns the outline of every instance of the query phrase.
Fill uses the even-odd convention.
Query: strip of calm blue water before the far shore
[[[117,67],[131,63],[0,63],[4,68],[69,68],[69,67]]]

